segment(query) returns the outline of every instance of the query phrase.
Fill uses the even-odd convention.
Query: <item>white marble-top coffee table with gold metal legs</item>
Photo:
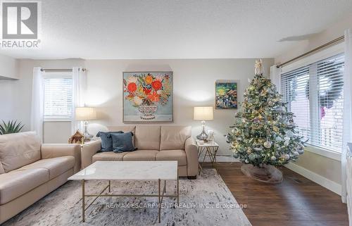
[[[158,197],[158,221],[161,222],[161,203],[163,197],[177,198],[179,203],[179,180],[177,174],[177,161],[96,161],[87,168],[68,178],[68,180],[82,181],[82,222],[85,221],[84,212],[99,196],[147,196]],[[100,194],[85,194],[84,182],[86,180],[106,180],[108,185]],[[158,194],[111,194],[111,180],[156,180],[158,181]],[[164,182],[161,191],[161,180]],[[177,181],[176,194],[166,195],[166,180]],[[103,194],[106,189],[108,192]],[[85,197],[95,199],[85,206]]]

